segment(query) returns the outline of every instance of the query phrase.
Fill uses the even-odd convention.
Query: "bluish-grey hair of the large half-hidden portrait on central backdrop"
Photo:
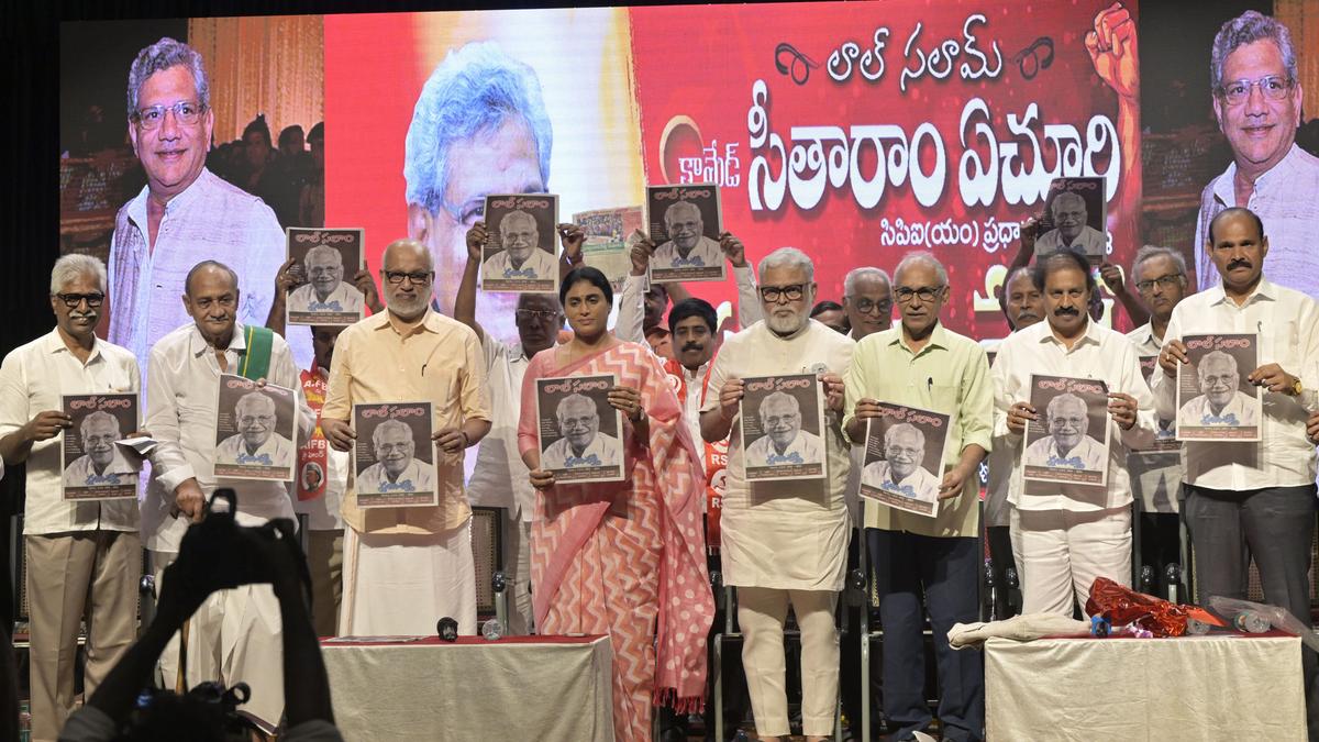
[[[480,132],[493,132],[510,119],[522,119],[532,129],[541,182],[549,182],[554,132],[536,70],[505,54],[493,41],[450,51],[422,87],[408,127],[404,143],[408,203],[439,214],[448,190],[450,148]],[[460,205],[447,206],[456,219],[454,207]]]

